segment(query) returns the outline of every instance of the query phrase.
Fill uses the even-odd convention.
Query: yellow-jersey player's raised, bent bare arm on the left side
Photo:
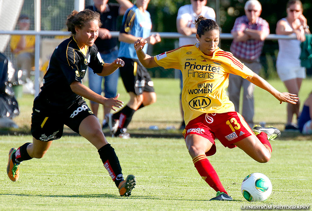
[[[147,41],[143,38],[134,42],[134,49],[136,50],[139,61],[146,68],[159,67],[159,65],[155,62],[154,57],[144,53],[143,48],[146,43]]]

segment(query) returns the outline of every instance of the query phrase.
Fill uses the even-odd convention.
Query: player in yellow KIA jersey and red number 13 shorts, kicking
[[[184,45],[154,57],[143,52],[146,41],[142,39],[134,43],[134,48],[146,68],[162,66],[182,71],[182,104],[186,123],[183,135],[188,152],[202,179],[217,191],[217,196],[210,200],[233,200],[207,159],[216,152],[215,138],[225,147],[237,146],[257,162],[265,163],[271,158],[269,140],[280,135],[280,131],[260,126],[251,130],[226,95],[229,74],[246,78],[270,92],[280,103],[296,104],[299,98],[277,91],[231,53],[219,49],[220,31],[215,21],[199,16],[196,28],[199,43],[195,45]]]

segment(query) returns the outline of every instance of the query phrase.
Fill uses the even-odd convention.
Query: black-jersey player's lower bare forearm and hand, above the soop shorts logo
[[[112,98],[105,98],[104,96],[101,96],[97,93],[95,93],[94,91],[92,91],[91,89],[89,89],[88,87],[86,87],[85,85],[81,84],[78,81],[74,81],[71,83],[71,90],[73,92],[75,92],[77,95],[80,95],[88,100],[94,101],[96,103],[102,104],[107,108],[110,108],[113,111],[116,111],[116,108],[121,108],[123,107],[123,101],[117,100],[117,98],[119,97],[119,94],[115,97]]]

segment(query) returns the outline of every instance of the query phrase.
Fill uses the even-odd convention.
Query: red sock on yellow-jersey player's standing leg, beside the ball
[[[210,187],[212,187],[215,191],[220,191],[227,194],[227,191],[221,184],[217,172],[208,161],[206,155],[197,155],[193,158],[193,163],[199,175],[204,181],[208,183]]]

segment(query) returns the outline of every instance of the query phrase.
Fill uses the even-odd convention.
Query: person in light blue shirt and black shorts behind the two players
[[[119,33],[118,58],[124,60],[124,67],[119,68],[124,87],[130,95],[128,104],[108,119],[108,125],[115,137],[129,138],[127,126],[134,112],[156,101],[153,81],[146,68],[139,62],[133,47],[134,41],[143,38],[148,44],[154,45],[161,41],[159,34],[150,35],[152,21],[146,8],[149,0],[137,0],[123,17]]]

